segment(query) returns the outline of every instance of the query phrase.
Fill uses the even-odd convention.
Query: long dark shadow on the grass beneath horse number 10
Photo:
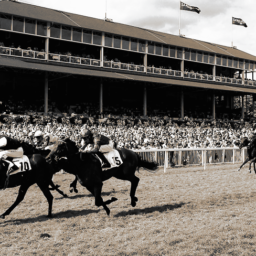
[[[100,210],[80,210],[80,211],[74,211],[74,210],[67,210],[67,211],[63,211],[63,212],[58,212],[53,214],[52,218],[58,218],[58,219],[62,219],[62,218],[74,218],[74,217],[78,217],[78,216],[85,216],[88,214],[92,214],[92,213],[98,213]],[[8,218],[8,216],[6,217]],[[51,218],[50,218],[51,219]],[[7,225],[13,224],[13,225],[23,225],[23,224],[28,224],[28,223],[35,223],[35,222],[45,222],[50,220],[49,218],[46,217],[46,215],[41,215],[35,218],[27,218],[27,219],[12,219],[12,220],[7,220],[3,222],[0,222],[0,226],[1,227],[5,227]]]

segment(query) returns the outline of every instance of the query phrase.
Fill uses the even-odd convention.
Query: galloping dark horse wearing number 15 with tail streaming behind
[[[123,160],[123,164],[107,171],[102,171],[100,161],[94,154],[78,153],[78,148],[70,139],[59,143],[50,155],[55,155],[59,158],[58,165],[60,169],[64,169],[66,172],[76,175],[79,183],[94,195],[95,205],[98,207],[103,206],[109,215],[110,210],[106,205],[117,199],[112,198],[107,202],[102,200],[101,190],[103,181],[111,177],[130,181],[131,205],[135,207],[138,201],[137,197],[135,197],[135,192],[139,183],[139,178],[135,176],[136,169],[140,167],[149,170],[157,169],[156,163],[142,160],[138,154],[131,150],[119,149],[118,151]]]

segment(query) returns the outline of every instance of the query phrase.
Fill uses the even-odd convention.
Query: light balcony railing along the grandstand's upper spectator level
[[[34,50],[23,50],[11,47],[4,47],[0,46],[0,55],[9,55],[15,57],[22,57],[22,58],[30,58],[30,59],[41,59],[47,60],[47,54],[43,51],[34,51]],[[55,62],[63,62],[63,63],[70,63],[76,65],[87,65],[87,66],[101,66],[101,61],[97,59],[91,58],[83,58],[79,56],[70,56],[70,55],[61,55],[57,53],[49,53],[48,54],[49,61]],[[111,69],[119,69],[119,70],[127,70],[127,71],[134,71],[134,72],[146,72],[148,74],[157,74],[157,75],[164,75],[164,76],[173,76],[173,77],[183,77],[189,79],[196,79],[196,80],[206,80],[206,81],[216,81],[220,83],[228,83],[228,84],[238,84],[238,85],[247,85],[247,86],[256,86],[256,81],[252,80],[242,80],[236,78],[229,78],[229,77],[220,77],[220,76],[213,76],[207,74],[199,74],[194,72],[182,72],[180,70],[172,70],[172,69],[165,69],[165,68],[157,68],[157,67],[147,67],[143,65],[135,65],[135,64],[127,64],[121,62],[114,62],[114,61],[103,61],[104,68],[111,68]]]

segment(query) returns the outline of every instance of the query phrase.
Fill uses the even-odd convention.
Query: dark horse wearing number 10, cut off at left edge
[[[48,201],[48,215],[52,217],[52,201],[53,196],[50,192],[49,186],[55,186],[52,182],[53,169],[49,163],[46,162],[45,157],[40,154],[33,154],[28,156],[31,170],[25,172],[18,172],[8,177],[8,164],[4,160],[0,160],[0,189],[13,188],[20,186],[18,196],[15,202],[9,207],[0,218],[4,219],[12,210],[24,199],[27,190],[33,184],[37,184],[43,192]]]

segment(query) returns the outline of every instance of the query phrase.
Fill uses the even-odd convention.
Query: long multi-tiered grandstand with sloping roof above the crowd
[[[17,1],[0,1],[0,38],[0,100],[45,113],[49,102],[90,103],[99,113],[122,106],[239,119],[246,106],[235,109],[235,99],[254,103],[256,57],[234,47]]]

